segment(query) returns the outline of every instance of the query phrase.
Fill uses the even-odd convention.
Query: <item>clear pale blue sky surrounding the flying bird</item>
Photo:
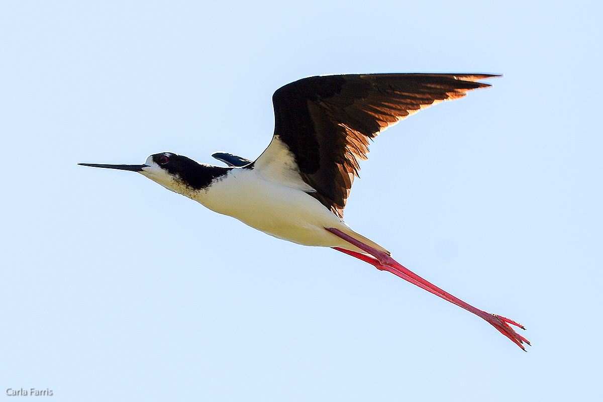
[[[408,3],[3,2],[1,393],[598,400],[601,5]],[[274,90],[352,72],[505,74],[379,137],[345,218],[522,322],[528,353],[344,254],[76,165],[254,159]]]

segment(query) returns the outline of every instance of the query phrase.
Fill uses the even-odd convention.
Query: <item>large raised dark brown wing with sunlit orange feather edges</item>
[[[273,96],[270,146],[286,145],[310,193],[339,217],[368,140],[440,101],[461,98],[491,74],[366,74],[309,77]],[[270,146],[265,154],[270,154]],[[264,154],[262,154],[264,155]],[[259,162],[259,160],[258,160]]]

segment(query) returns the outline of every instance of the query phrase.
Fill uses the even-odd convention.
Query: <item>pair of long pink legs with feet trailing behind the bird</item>
[[[521,336],[516,331],[514,331],[513,328],[511,328],[511,326],[509,324],[516,325],[517,327],[522,328],[522,330],[525,330],[523,325],[517,324],[517,322],[515,322],[511,319],[505,318],[503,316],[490,314],[485,311],[476,309],[475,307],[471,306],[470,304],[465,303],[463,300],[460,300],[459,298],[454,297],[453,295],[449,294],[448,292],[443,291],[442,289],[435,286],[434,284],[421,278],[414,272],[412,272],[409,269],[405,268],[404,266],[400,265],[400,263],[398,263],[396,260],[394,260],[393,258],[388,256],[387,254],[383,253],[382,251],[375,250],[374,248],[372,248],[362,242],[359,242],[358,240],[354,239],[353,237],[348,236],[347,234],[343,233],[343,231],[341,231],[341,230],[338,230],[335,228],[326,228],[326,230],[330,231],[331,233],[335,234],[338,237],[341,237],[342,239],[346,240],[350,244],[355,245],[360,250],[365,251],[366,253],[370,254],[374,258],[367,256],[365,254],[356,253],[355,251],[346,250],[344,248],[333,247],[335,250],[341,251],[342,253],[349,254],[350,256],[356,257],[357,259],[360,259],[364,262],[368,262],[371,265],[374,265],[380,271],[391,272],[392,274],[397,275],[400,278],[407,280],[412,284],[417,285],[418,287],[421,287],[421,289],[425,289],[426,291],[428,291],[434,295],[437,295],[437,296],[443,298],[444,300],[449,301],[450,303],[456,304],[456,306],[463,307],[463,309],[465,309],[469,312],[472,312],[475,315],[480,316],[481,318],[485,319],[485,321],[490,322],[490,324],[493,325],[494,328],[499,330],[500,333],[502,333],[507,338],[511,339],[511,341],[515,342],[515,344],[517,346],[519,346],[520,348],[522,348],[523,350],[525,350],[525,347],[523,347],[523,345],[522,345],[524,342],[528,345],[530,344],[528,342],[528,339],[523,338],[523,336]]]

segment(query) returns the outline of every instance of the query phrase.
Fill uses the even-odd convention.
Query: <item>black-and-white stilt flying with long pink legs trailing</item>
[[[308,77],[273,95],[274,135],[254,161],[227,153],[212,156],[228,165],[197,163],[162,152],[143,165],[95,168],[139,172],[210,210],[232,216],[279,239],[332,247],[391,272],[478,315],[525,350],[522,325],[476,309],[409,271],[384,247],[356,233],[343,210],[359,160],[369,141],[417,111],[461,98],[491,74],[350,74]]]

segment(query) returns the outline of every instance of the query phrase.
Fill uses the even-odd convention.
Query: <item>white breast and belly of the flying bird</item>
[[[301,190],[262,180],[251,169],[233,169],[223,180],[188,196],[210,210],[279,239],[308,246],[350,248],[349,243],[324,230],[349,228],[317,199]]]

